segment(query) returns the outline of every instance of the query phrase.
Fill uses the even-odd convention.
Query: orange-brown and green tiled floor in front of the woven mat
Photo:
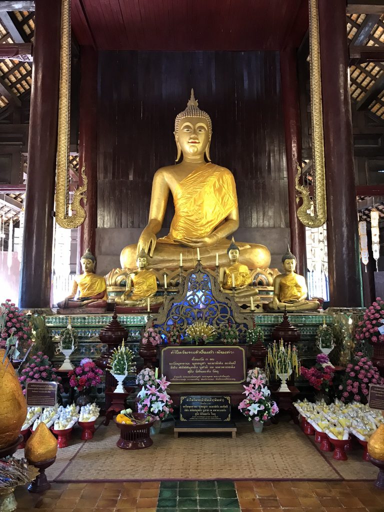
[[[54,483],[15,495],[20,512],[384,512],[384,491],[367,481]]]

